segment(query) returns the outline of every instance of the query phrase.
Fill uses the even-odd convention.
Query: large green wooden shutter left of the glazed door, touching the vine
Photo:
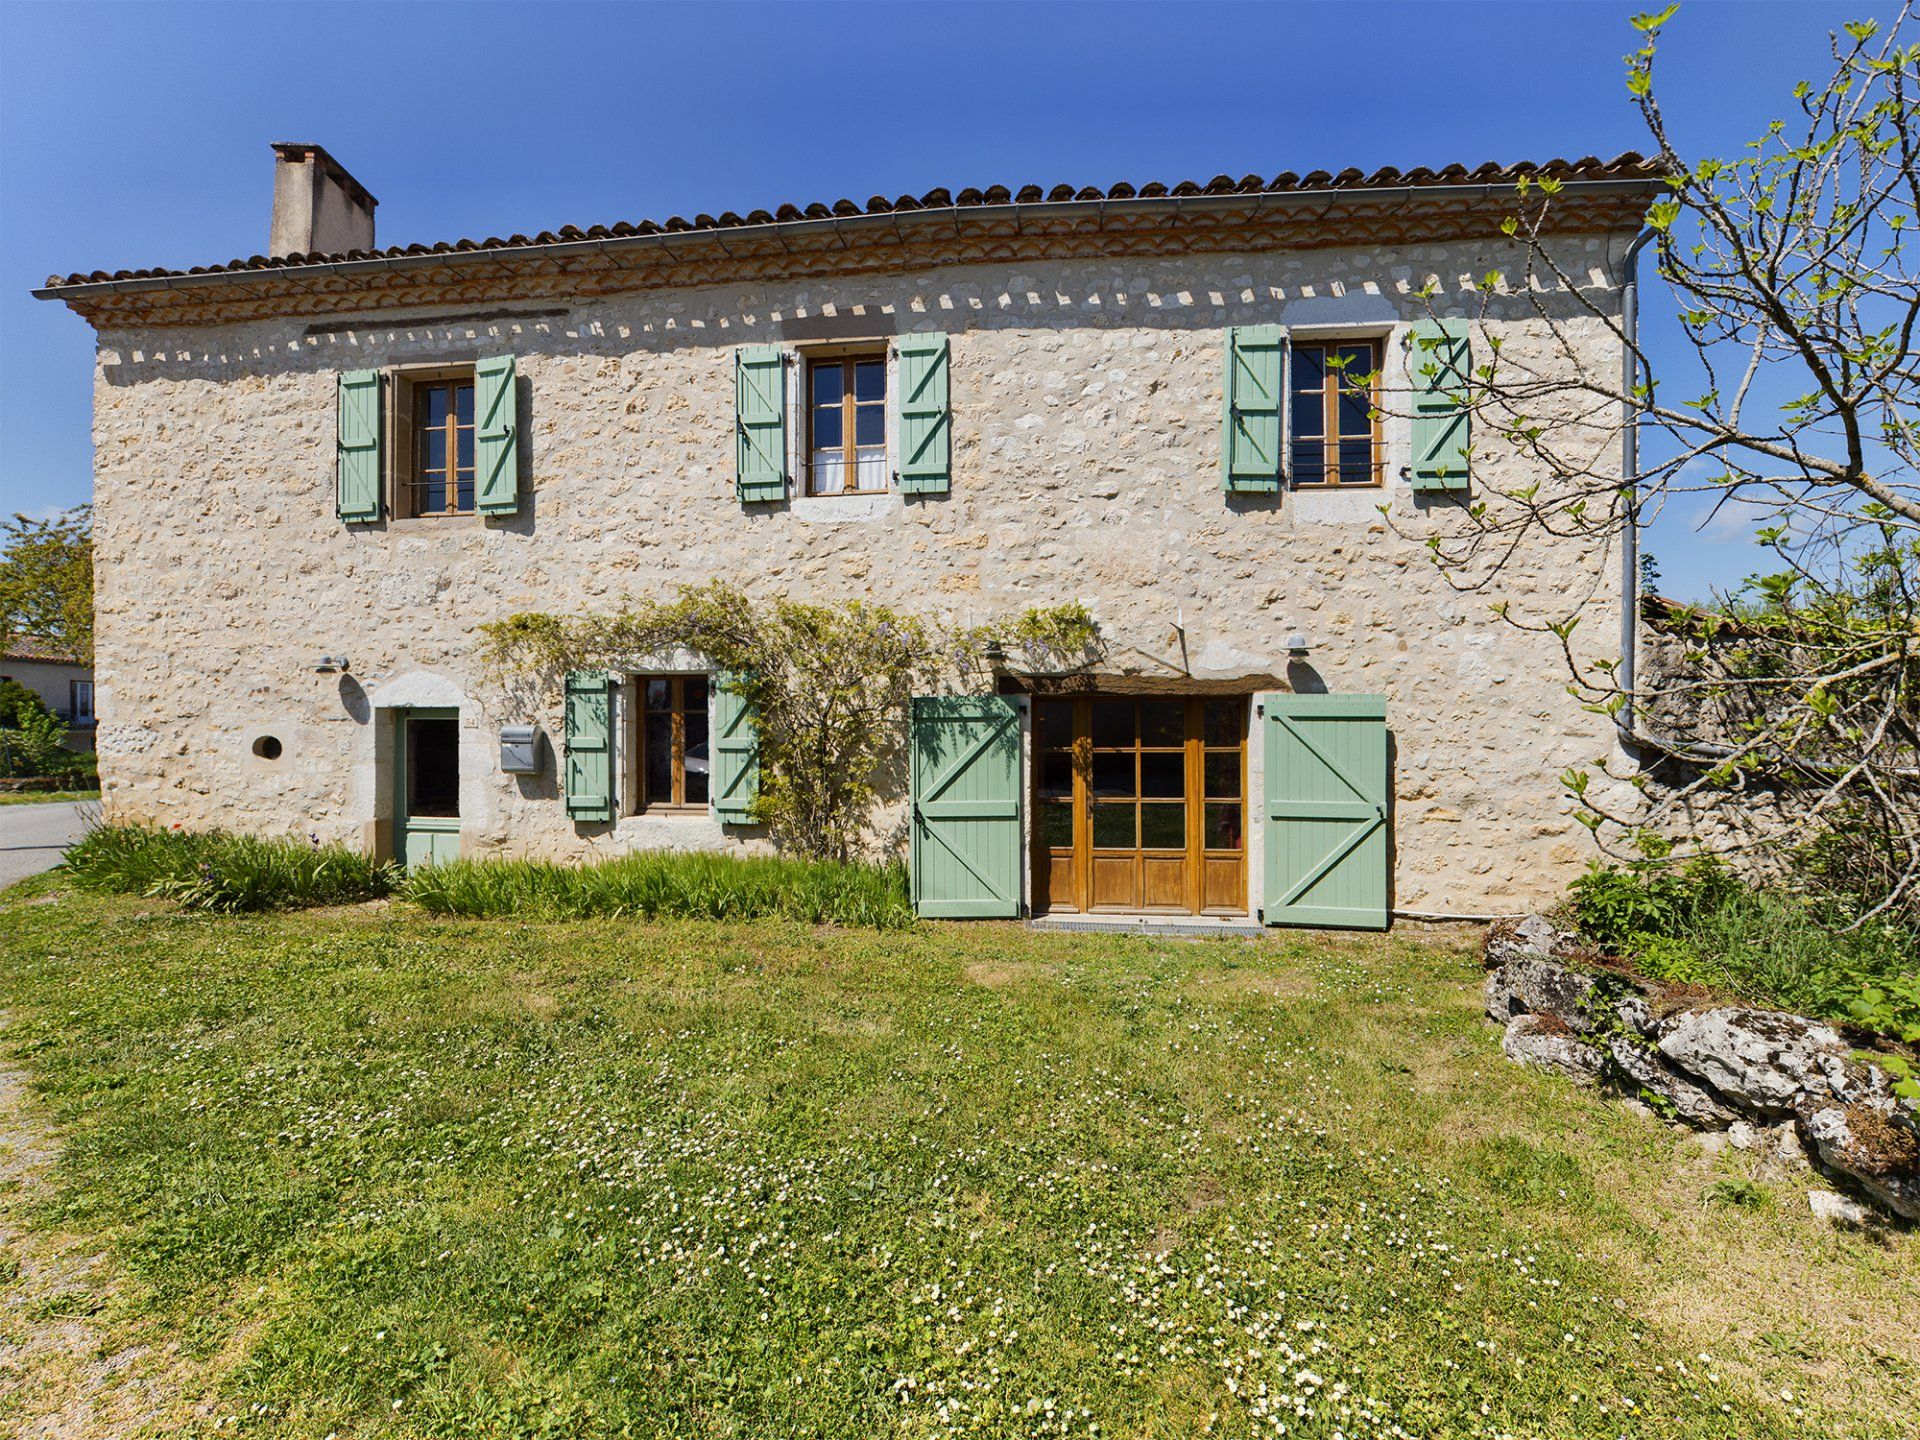
[[[1020,914],[1020,710],[1006,695],[916,695],[912,887],[924,916]]]

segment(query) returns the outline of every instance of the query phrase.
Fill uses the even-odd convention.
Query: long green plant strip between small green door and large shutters
[[[536,860],[455,860],[417,870],[401,895],[447,916],[582,920],[751,920],[785,916],[806,924],[912,924],[906,870],[899,864],[735,858],[682,851],[639,851],[589,866]]]

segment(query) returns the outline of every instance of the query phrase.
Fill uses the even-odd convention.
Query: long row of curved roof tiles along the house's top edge
[[[340,261],[355,259],[397,259],[401,255],[445,255],[445,253],[465,253],[465,252],[486,252],[486,250],[526,250],[530,246],[555,246],[566,244],[570,240],[614,240],[626,236],[641,234],[684,234],[699,230],[732,230],[747,225],[772,225],[776,221],[803,221],[803,219],[835,219],[852,215],[893,215],[918,209],[970,209],[977,205],[1058,205],[1068,202],[1089,202],[1089,200],[1154,200],[1162,196],[1229,196],[1229,194],[1283,194],[1283,192],[1311,192],[1311,190],[1379,190],[1392,186],[1446,186],[1446,184],[1515,184],[1521,177],[1551,177],[1555,180],[1655,180],[1661,177],[1657,161],[1649,161],[1644,156],[1626,152],[1613,159],[1599,159],[1597,156],[1586,156],[1582,159],[1548,159],[1548,161],[1519,161],[1513,165],[1500,165],[1488,161],[1476,169],[1467,169],[1465,165],[1448,165],[1446,169],[1427,169],[1417,167],[1411,171],[1400,171],[1394,167],[1379,169],[1369,173],[1357,169],[1344,169],[1338,175],[1329,171],[1311,171],[1308,175],[1296,175],[1292,171],[1283,171],[1271,180],[1263,180],[1258,175],[1248,175],[1235,180],[1231,175],[1215,175],[1206,184],[1196,180],[1181,180],[1179,184],[1165,186],[1160,182],[1142,184],[1139,188],[1121,180],[1106,190],[1098,186],[1075,188],[1071,184],[1056,184],[1050,190],[1041,190],[1037,184],[1021,186],[1018,192],[1008,190],[1004,184],[995,184],[985,190],[960,190],[958,194],[937,188],[927,190],[924,196],[899,196],[897,200],[887,200],[885,196],[872,196],[866,205],[852,200],[835,200],[831,205],[814,202],[810,205],[780,205],[776,211],[768,213],[764,209],[755,209],[747,215],[737,215],[735,211],[724,211],[722,215],[695,215],[691,221],[680,215],[672,215],[664,221],[620,221],[616,225],[593,225],[580,228],[576,225],[561,227],[559,230],[541,230],[540,234],[509,234],[509,236],[490,236],[486,240],[453,240],[426,244],[407,244],[390,246],[386,250],[349,250],[342,253],[294,253],[294,255],[250,255],[248,259],[232,259],[225,265],[194,265],[186,271],[167,271],[167,269],[146,269],[146,271],[92,271],[90,275],[73,273],[67,276],[50,275],[46,278],[46,290],[58,290],[61,286],[77,284],[100,284],[106,280],[167,280],[184,275],[227,275],[244,271],[278,271],[296,265],[334,265]]]

